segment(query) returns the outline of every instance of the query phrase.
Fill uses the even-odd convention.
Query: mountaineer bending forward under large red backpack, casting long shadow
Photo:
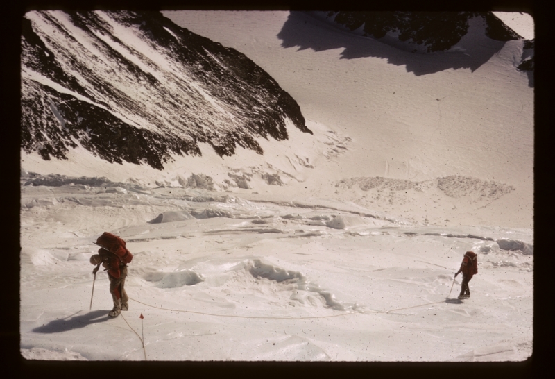
[[[90,262],[96,264],[92,271],[96,278],[96,271],[102,264],[104,271],[108,271],[110,279],[110,294],[114,301],[114,308],[108,313],[110,317],[116,317],[121,310],[128,310],[128,296],[124,288],[127,276],[127,264],[133,259],[133,255],[126,248],[126,242],[117,235],[104,232],[98,239],[97,244],[101,246],[99,253],[92,255]]]

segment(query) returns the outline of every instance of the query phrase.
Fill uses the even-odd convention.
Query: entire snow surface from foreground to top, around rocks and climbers
[[[259,139],[264,155],[221,158],[199,144],[202,157],[164,171],[80,148],[64,161],[22,153],[25,358],[531,355],[533,88],[515,69],[522,41],[484,45],[494,52],[475,69],[445,68],[442,53],[411,55],[294,12],[164,15],[246,54],[314,135],[289,123],[289,140]],[[285,47],[287,35],[337,44]],[[342,58],[357,44],[366,56]],[[104,271],[91,297],[103,231],[134,256],[129,310],[113,319]],[[466,251],[479,272],[460,301]]]

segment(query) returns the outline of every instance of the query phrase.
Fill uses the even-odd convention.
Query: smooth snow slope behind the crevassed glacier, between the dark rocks
[[[252,59],[298,101],[313,134],[287,119],[288,140],[254,138],[264,155],[238,146],[221,156],[198,142],[202,156],[171,153],[163,171],[112,164],[84,147],[68,160],[22,153],[26,171],[352,201],[425,224],[533,225],[524,40],[492,40],[483,17],[472,17],[448,51],[411,53],[304,12],[164,15]]]

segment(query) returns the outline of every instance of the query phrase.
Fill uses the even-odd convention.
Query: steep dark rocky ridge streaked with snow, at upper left
[[[28,12],[22,25],[22,149],[162,169],[171,154],[263,153],[259,136],[311,130],[255,63],[158,12]]]

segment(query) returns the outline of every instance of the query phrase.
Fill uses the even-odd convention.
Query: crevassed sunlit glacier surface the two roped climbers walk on
[[[22,177],[20,333],[28,359],[531,355],[530,230],[411,226],[349,202],[248,201],[99,178],[24,185],[37,178]],[[103,230],[126,239],[134,255],[130,309],[115,319],[104,271],[91,305],[89,257]],[[472,297],[459,301],[461,276],[454,283],[453,274],[468,250],[479,254],[479,273]]]

